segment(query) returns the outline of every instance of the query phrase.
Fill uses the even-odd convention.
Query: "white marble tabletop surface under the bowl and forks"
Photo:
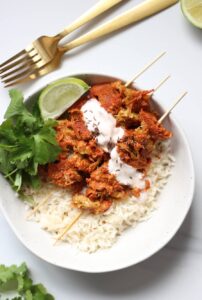
[[[160,1],[160,0],[159,0]],[[42,33],[56,33],[74,20],[94,0],[0,1],[0,61],[20,50]],[[96,22],[88,30],[134,6],[138,0],[123,4]],[[190,26],[179,5],[114,34],[84,46],[66,56],[62,70],[83,70],[130,78],[145,63],[163,50],[164,57],[138,82],[145,88],[155,86],[165,75],[171,80],[157,96],[165,105],[181,91],[189,94],[174,111],[190,142],[196,171],[196,191],[192,208],[172,241],[147,261],[109,274],[89,275],[63,270],[47,264],[16,239],[0,213],[0,263],[26,261],[34,278],[44,282],[58,300],[66,299],[201,299],[202,292],[202,31]],[[40,84],[60,76],[60,70],[40,79]],[[25,93],[39,82],[21,86]],[[0,86],[0,121],[8,104],[7,91]],[[186,170],[185,170],[186,171]]]

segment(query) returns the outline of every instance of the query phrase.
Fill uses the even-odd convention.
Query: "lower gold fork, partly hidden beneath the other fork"
[[[19,73],[17,75],[11,76],[6,79],[4,77],[3,82],[5,83],[6,87],[8,87],[50,73],[59,67],[61,58],[65,52],[74,49],[76,47],[79,47],[90,41],[93,41],[106,34],[109,34],[115,30],[123,28],[129,24],[132,24],[146,17],[149,17],[177,2],[178,0],[146,0],[143,3],[135,6],[134,8],[126,11],[125,13],[117,16],[113,20],[69,42],[68,44],[64,46],[57,46],[55,55],[49,63],[41,67],[35,65],[36,67],[34,69],[33,68],[30,69],[28,67],[25,72]]]

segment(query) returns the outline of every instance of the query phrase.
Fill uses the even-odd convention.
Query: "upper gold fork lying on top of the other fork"
[[[59,34],[51,37],[39,37],[24,50],[0,64],[1,79],[8,78],[9,76],[15,77],[20,71],[22,73],[21,76],[23,76],[27,74],[27,71],[40,69],[55,57],[57,45],[61,39],[122,1],[123,0],[100,0]]]

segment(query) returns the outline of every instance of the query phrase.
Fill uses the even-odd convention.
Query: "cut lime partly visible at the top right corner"
[[[202,0],[181,0],[181,8],[194,26],[202,28]]]

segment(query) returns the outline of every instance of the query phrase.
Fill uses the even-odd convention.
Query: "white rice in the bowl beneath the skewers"
[[[104,214],[84,212],[63,237],[63,241],[89,253],[111,247],[125,229],[147,219],[156,208],[158,194],[167,183],[173,164],[169,142],[160,143],[147,176],[151,188],[142,193],[140,198],[130,197],[127,200],[114,201]],[[34,206],[48,196],[47,202],[32,215],[32,220],[51,233],[53,238],[57,238],[79,213],[72,206],[71,194],[65,189],[44,184],[37,192],[29,193],[33,195]]]

